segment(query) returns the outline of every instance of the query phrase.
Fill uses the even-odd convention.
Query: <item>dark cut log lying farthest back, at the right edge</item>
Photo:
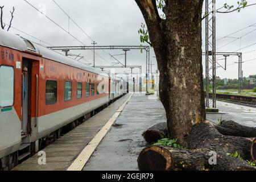
[[[232,120],[223,120],[216,129],[222,135],[230,135],[237,137],[256,137],[256,127],[240,125]]]

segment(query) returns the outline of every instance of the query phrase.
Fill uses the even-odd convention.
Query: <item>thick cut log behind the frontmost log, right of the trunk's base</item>
[[[253,138],[225,136],[211,123],[199,123],[192,127],[188,138],[188,148],[206,148],[215,152],[238,152],[245,160],[251,160]]]

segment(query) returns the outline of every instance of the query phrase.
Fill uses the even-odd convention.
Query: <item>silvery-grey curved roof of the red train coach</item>
[[[0,28],[1,29],[1,28]],[[59,63],[71,65],[72,67],[84,69],[85,71],[97,73],[102,76],[109,75],[106,72],[102,72],[99,69],[90,67],[84,63],[81,63],[75,59],[64,56],[59,52],[53,51],[47,47],[41,46],[37,43],[32,43],[30,40],[24,39],[18,35],[11,34],[10,32],[0,30],[0,46],[13,48],[19,51],[32,51],[42,55],[46,59],[50,59]]]

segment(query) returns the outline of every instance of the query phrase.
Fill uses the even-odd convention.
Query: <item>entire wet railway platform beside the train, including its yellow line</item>
[[[222,101],[217,106],[220,113],[207,113],[208,120],[256,126],[256,108]],[[164,121],[163,105],[155,95],[127,94],[46,147],[46,165],[40,166],[34,155],[14,170],[137,171],[139,152],[146,147],[143,131]]]

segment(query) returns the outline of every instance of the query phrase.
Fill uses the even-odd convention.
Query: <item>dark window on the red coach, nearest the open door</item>
[[[57,81],[46,80],[46,105],[57,102]]]

